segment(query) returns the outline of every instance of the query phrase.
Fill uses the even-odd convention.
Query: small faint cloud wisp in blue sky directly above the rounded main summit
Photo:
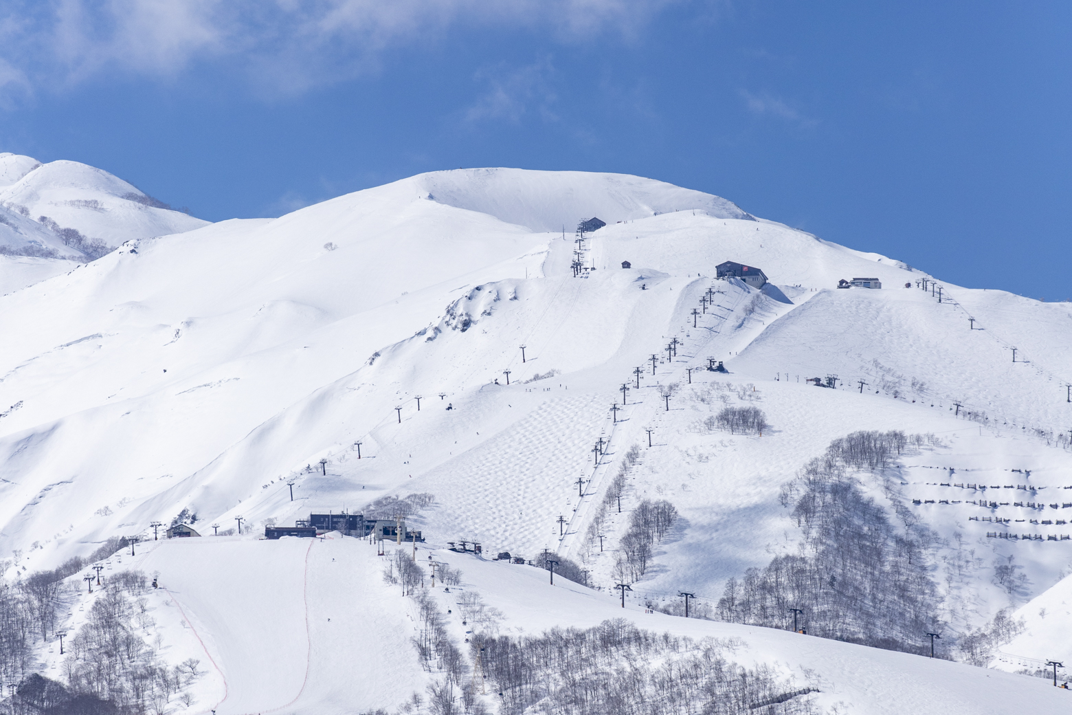
[[[520,69],[497,66],[481,70],[477,79],[486,81],[489,89],[466,110],[465,119],[471,122],[482,119],[517,122],[524,114],[536,110],[545,121],[556,120],[551,110],[557,99],[551,85],[553,73],[549,58]]]

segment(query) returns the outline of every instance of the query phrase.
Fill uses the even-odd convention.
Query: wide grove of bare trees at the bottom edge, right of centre
[[[624,619],[481,643],[483,674],[494,683],[504,715],[818,712],[807,698],[776,702],[794,691],[792,685],[766,666],[749,669],[728,660],[730,643],[644,631]],[[475,652],[481,643],[471,647]]]

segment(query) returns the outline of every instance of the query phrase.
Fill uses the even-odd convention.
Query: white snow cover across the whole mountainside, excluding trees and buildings
[[[29,179],[55,166],[0,159],[14,167],[0,174],[5,202],[28,202]],[[125,191],[108,181],[107,196]],[[35,200],[73,223],[56,191]],[[266,522],[416,492],[435,496],[411,519],[427,538],[417,560],[463,572],[436,598],[446,610],[478,592],[504,632],[622,616],[739,638],[739,662],[818,688],[807,697],[829,712],[1068,712],[1066,690],[999,670],[1072,658],[1072,593],[1058,584],[1072,563],[1072,472],[1058,442],[1072,426],[1068,304],[949,283],[939,302],[918,285],[930,277],[897,260],[622,175],[442,172],[154,238],[138,223],[153,209],[133,206],[128,233],[113,234],[119,250],[0,297],[0,551],[18,554],[12,578],[108,537],[147,536],[107,568],[159,572],[149,599],[163,656],[211,665],[173,712],[349,713],[423,690],[434,673],[411,645],[415,607],[384,582],[375,547],[337,533],[260,540]],[[607,226],[575,243],[572,227],[592,215]],[[716,280],[724,260],[758,266],[771,284]],[[883,287],[834,287],[857,277]],[[729,372],[705,370],[709,357]],[[837,389],[805,383],[828,374]],[[771,429],[701,429],[713,413],[697,394],[712,384],[728,404],[763,409]],[[832,440],[895,429],[937,438],[900,458],[899,491],[881,503],[904,504],[943,539],[938,615],[963,631],[1002,608],[1034,614],[992,668],[645,608],[683,590],[713,604],[727,579],[793,550],[779,487]],[[632,446],[625,512],[610,515],[600,553],[583,537]],[[987,495],[1003,504],[967,504]],[[623,610],[613,554],[645,497],[681,518]],[[1027,500],[1043,506],[1012,506]],[[187,508],[207,536],[152,541],[151,522]],[[238,517],[242,536],[211,537],[209,524]],[[997,532],[1041,540],[987,536]],[[549,549],[583,563],[596,587],[446,550],[460,539],[486,556]],[[1010,563],[1011,586],[995,578]],[[72,602],[70,628],[96,596]],[[42,658],[46,674],[61,671],[58,654]]]

